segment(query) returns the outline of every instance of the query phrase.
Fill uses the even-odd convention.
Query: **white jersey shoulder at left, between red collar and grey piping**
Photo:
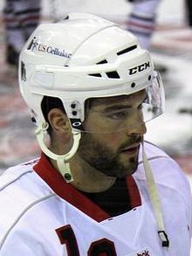
[[[0,176],[0,244],[18,218],[53,194],[33,170],[37,162],[38,159],[10,167]]]

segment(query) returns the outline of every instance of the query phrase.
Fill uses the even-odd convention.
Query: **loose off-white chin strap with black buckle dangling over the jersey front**
[[[144,149],[144,141],[142,141],[142,160],[143,160],[145,174],[147,177],[148,194],[154,208],[154,218],[156,219],[156,223],[158,226],[158,234],[161,239],[161,246],[169,248],[168,235],[165,232],[165,226],[164,226],[164,221],[162,217],[161,202],[158,195],[157,187],[154,182],[154,176],[147,160],[147,155]]]

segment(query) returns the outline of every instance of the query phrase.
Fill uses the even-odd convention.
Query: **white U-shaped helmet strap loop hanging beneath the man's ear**
[[[49,124],[47,122],[41,123],[38,128],[35,131],[35,135],[37,137],[38,145],[40,149],[45,153],[46,156],[49,156],[51,159],[55,160],[58,165],[58,170],[61,173],[61,175],[65,178],[65,181],[67,183],[71,183],[73,181],[72,172],[70,170],[70,164],[69,160],[72,158],[72,156],[75,155],[79,148],[79,140],[81,137],[80,131],[74,131],[72,129],[72,135],[73,135],[73,145],[72,149],[65,155],[57,155],[51,152],[50,149],[47,148],[44,142],[44,133],[49,127]]]

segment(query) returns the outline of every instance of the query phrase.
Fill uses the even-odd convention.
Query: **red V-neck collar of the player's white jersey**
[[[86,213],[89,217],[98,222],[110,218],[106,211],[100,209],[98,205],[93,204],[90,199],[82,195],[79,190],[76,190],[70,183],[66,183],[63,176],[52,167],[45,154],[41,155],[33,169],[59,197],[62,197],[68,203]],[[127,177],[127,188],[131,198],[132,208],[141,205],[140,193],[133,176]]]

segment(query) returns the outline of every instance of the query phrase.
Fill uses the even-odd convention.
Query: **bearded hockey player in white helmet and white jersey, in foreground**
[[[42,155],[0,178],[0,255],[188,256],[189,183],[143,140],[164,94],[134,35],[82,13],[41,24],[19,85]]]

